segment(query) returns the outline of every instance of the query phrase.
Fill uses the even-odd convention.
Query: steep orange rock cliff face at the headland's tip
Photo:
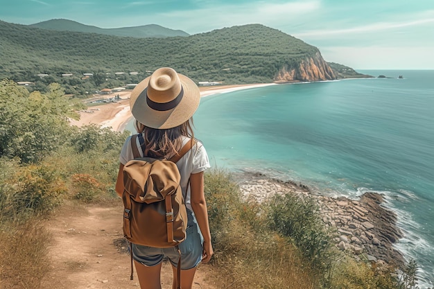
[[[304,82],[334,79],[336,79],[335,73],[318,51],[315,56],[302,60],[297,68],[282,67],[274,80],[275,82]]]

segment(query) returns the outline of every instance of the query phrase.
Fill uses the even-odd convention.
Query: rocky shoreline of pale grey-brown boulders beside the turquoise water
[[[393,244],[402,237],[397,227],[397,215],[383,207],[379,193],[365,193],[359,200],[345,197],[331,198],[311,193],[304,184],[282,182],[261,173],[234,173],[244,198],[258,202],[275,193],[309,195],[320,206],[325,225],[336,228],[336,247],[357,260],[371,261],[379,265],[396,265],[403,268],[403,255]]]

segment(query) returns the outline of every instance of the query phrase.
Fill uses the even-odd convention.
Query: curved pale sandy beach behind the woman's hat
[[[225,86],[209,86],[199,87],[200,96],[206,97],[213,94],[224,94],[227,92],[237,91],[241,89],[250,89],[256,87],[264,87],[275,85],[275,83],[259,83],[254,85],[225,85]],[[96,96],[100,99],[114,98],[119,94],[121,100],[116,103],[104,103],[103,105],[95,105],[88,107],[87,110],[78,112],[80,119],[78,121],[71,120],[71,125],[78,127],[83,125],[96,124],[102,128],[111,128],[114,131],[122,131],[125,128],[125,123],[132,118],[130,112],[130,94],[131,91],[122,91],[114,94],[106,94],[104,96]]]

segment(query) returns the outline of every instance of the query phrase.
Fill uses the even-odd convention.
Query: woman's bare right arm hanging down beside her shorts
[[[214,254],[209,231],[207,202],[204,193],[204,173],[190,175],[191,207],[193,208],[200,232],[204,238],[202,262],[207,263]]]

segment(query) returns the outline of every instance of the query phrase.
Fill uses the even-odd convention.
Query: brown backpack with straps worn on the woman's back
[[[144,146],[141,134],[134,134],[131,137],[134,159],[123,166],[123,234],[130,243],[175,247],[185,239],[187,226],[181,176],[175,163],[191,149],[196,139],[191,139],[171,159],[153,159],[140,157],[137,137]],[[132,274],[131,270],[130,279]]]

